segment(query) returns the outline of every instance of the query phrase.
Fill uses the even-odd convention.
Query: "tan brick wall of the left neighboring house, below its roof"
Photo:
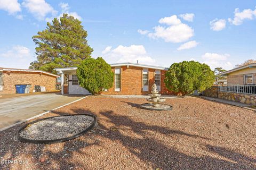
[[[35,85],[44,86],[46,91],[55,90],[56,78],[51,75],[19,71],[3,71],[3,75],[3,94],[15,94],[15,84],[31,84],[30,92],[33,92]]]

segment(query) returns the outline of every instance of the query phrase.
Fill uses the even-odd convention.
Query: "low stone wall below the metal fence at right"
[[[209,89],[206,89],[204,91],[204,96],[217,97],[217,87],[213,86]],[[256,95],[218,91],[218,98],[237,101],[237,102],[245,103],[249,105],[256,105]]]

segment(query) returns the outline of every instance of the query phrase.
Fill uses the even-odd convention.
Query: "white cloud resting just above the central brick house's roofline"
[[[102,54],[104,54],[103,58],[108,63],[136,63],[137,60],[139,61],[139,63],[143,64],[154,64],[156,62],[155,59],[148,56],[146,49],[143,45],[119,45],[115,49],[111,49],[111,47],[108,46],[105,48],[105,50],[102,51]]]

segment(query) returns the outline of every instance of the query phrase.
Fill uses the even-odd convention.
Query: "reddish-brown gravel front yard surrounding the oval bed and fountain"
[[[166,99],[172,111],[147,111],[142,103],[87,97],[40,117],[97,116],[96,128],[67,142],[20,143],[21,125],[2,131],[0,169],[256,169],[254,111],[195,97]]]

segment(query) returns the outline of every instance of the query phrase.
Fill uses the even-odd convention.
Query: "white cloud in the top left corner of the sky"
[[[21,11],[18,0],[0,0],[0,9],[7,11],[9,14]]]

